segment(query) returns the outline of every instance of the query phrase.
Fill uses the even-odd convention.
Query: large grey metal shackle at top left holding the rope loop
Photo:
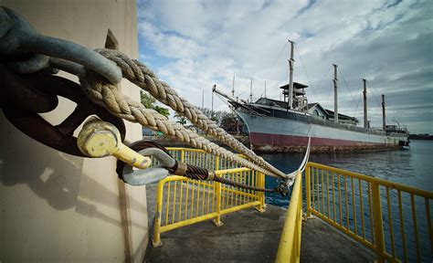
[[[9,68],[18,73],[33,73],[49,67],[65,68],[64,64],[70,65],[68,61],[73,61],[100,73],[113,84],[121,81],[121,70],[111,60],[88,47],[39,34],[23,16],[6,7],[0,7],[0,55],[23,58],[18,62],[11,59],[8,63]]]

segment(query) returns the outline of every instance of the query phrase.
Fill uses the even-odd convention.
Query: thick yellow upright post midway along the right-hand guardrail
[[[375,225],[375,252],[379,262],[385,261],[384,226],[382,221],[382,207],[380,204],[379,184],[372,183],[373,218]]]

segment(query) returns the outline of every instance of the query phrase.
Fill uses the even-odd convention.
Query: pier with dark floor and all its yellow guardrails
[[[216,176],[258,187],[265,183],[264,174],[232,166],[218,156],[187,148],[168,150],[183,162],[216,167]],[[182,176],[147,185],[146,192],[153,233],[146,262],[385,262],[430,257],[432,235],[422,222],[426,218],[431,224],[433,193],[320,163],[307,163],[304,173],[298,172],[287,210],[265,205],[259,191]],[[411,204],[403,205],[407,198]],[[397,206],[392,208],[392,203]]]

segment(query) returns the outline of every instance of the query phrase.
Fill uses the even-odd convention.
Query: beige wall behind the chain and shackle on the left
[[[45,35],[86,47],[104,47],[110,29],[119,49],[138,58],[133,0],[0,0],[0,5]],[[122,81],[121,89],[139,100],[129,82]],[[74,103],[60,100],[58,109],[43,116],[57,124],[73,109]],[[144,187],[121,183],[114,158],[59,153],[16,130],[0,112],[0,262],[142,261],[148,238]],[[127,140],[141,139],[140,125],[126,126]]]

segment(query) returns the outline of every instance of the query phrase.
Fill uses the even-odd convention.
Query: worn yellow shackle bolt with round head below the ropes
[[[113,155],[124,163],[146,169],[151,165],[151,158],[136,153],[121,142],[121,133],[109,122],[91,118],[84,123],[77,140],[79,151],[92,158]]]

